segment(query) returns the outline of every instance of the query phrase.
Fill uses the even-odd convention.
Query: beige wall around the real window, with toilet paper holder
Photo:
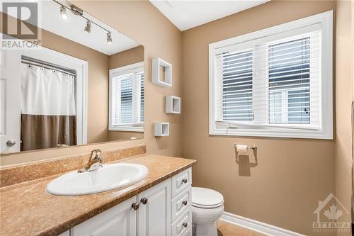
[[[336,190],[334,142],[208,135],[208,45],[331,9],[334,1],[270,1],[183,31],[183,156],[198,161],[194,185],[220,191],[227,212],[314,235],[318,201]],[[235,142],[256,145],[258,164],[253,155],[237,164]]]

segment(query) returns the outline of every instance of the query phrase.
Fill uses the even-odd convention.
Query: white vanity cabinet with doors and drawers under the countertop
[[[192,235],[191,184],[185,169],[62,235]]]

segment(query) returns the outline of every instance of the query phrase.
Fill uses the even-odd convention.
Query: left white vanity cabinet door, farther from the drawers
[[[136,236],[137,210],[132,203],[137,196],[72,228],[72,236]]]

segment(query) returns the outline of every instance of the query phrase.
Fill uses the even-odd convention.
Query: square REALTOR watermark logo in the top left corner
[[[1,1],[1,44],[5,50],[38,49],[40,1]]]

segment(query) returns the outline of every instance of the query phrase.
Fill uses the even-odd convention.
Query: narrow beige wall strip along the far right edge
[[[336,2],[336,196],[350,211],[352,189],[353,2]],[[350,215],[343,218],[350,221]],[[343,220],[343,219],[341,219]],[[350,235],[348,233],[348,235]]]

